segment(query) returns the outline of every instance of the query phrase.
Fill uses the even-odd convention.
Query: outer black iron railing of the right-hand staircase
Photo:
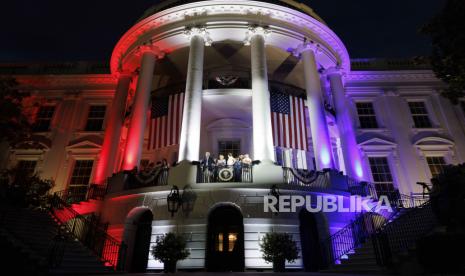
[[[407,252],[415,242],[436,225],[431,201],[409,209],[397,219],[381,226],[372,236],[376,261],[379,265],[392,264],[395,254]]]

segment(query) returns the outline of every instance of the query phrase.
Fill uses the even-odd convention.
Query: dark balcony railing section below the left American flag
[[[150,171],[125,171],[125,190],[168,185],[169,168],[155,168]]]

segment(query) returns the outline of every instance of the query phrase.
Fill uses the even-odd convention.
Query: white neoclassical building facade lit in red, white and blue
[[[109,66],[0,66],[31,93],[35,120],[30,140],[2,145],[1,166],[53,179],[55,191],[105,187],[75,208],[109,223],[130,269],[161,269],[149,246],[173,231],[191,252],[180,269],[270,268],[258,244],[274,231],[299,242],[288,267],[314,270],[309,248],[355,214],[267,213],[273,187],[348,198],[370,183],[415,195],[417,182],[465,162],[465,104],[440,95],[428,64],[351,60],[294,1],[163,2],[123,35]],[[205,152],[254,162],[221,177],[205,173]],[[179,210],[168,206],[174,186],[191,196]]]

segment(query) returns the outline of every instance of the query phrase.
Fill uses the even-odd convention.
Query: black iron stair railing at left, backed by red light
[[[97,222],[86,218],[63,199],[66,192],[55,193],[50,199],[50,212],[75,239],[89,248],[106,266],[123,270],[126,246],[106,233]]]

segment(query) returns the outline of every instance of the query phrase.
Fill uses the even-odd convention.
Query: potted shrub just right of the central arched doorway
[[[293,263],[299,258],[297,244],[287,233],[266,233],[260,243],[263,259],[273,263],[274,272],[284,272],[286,261]]]

